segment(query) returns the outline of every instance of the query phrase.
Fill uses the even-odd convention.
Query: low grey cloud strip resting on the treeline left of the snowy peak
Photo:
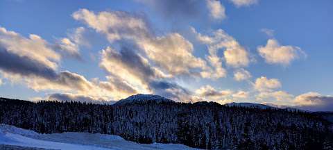
[[[85,95],[76,95],[76,94],[69,94],[69,93],[55,93],[50,94],[47,97],[49,101],[78,101],[78,102],[85,102],[85,103],[98,103],[98,104],[113,104],[116,101],[106,101],[105,99],[98,99],[94,97],[89,97]]]

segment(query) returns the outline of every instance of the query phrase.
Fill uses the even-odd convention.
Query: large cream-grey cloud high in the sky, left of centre
[[[87,9],[80,9],[72,16],[97,32],[105,34],[110,42],[121,39],[146,39],[150,36],[146,21],[127,12],[103,11],[95,14]]]

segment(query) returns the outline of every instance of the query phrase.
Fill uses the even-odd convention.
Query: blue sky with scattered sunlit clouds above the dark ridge
[[[333,110],[333,1],[0,0],[0,97]]]

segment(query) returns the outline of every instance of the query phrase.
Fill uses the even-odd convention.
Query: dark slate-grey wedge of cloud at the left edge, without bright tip
[[[3,47],[0,47],[0,69],[21,76],[41,76],[51,80],[58,76],[51,67],[29,57],[10,53]]]

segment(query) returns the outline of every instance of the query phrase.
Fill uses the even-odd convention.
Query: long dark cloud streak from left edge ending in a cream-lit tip
[[[77,90],[89,90],[92,85],[83,76],[68,71],[57,72],[33,60],[27,56],[19,56],[0,48],[0,69],[9,74],[18,74],[22,77],[44,78],[44,82],[75,88]],[[45,83],[46,84],[46,83]],[[45,85],[44,84],[44,85]]]

